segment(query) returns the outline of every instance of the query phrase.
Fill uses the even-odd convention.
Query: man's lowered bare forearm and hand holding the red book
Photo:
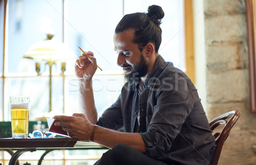
[[[145,143],[139,133],[123,133],[94,126],[81,113],[75,113],[73,116],[54,116],[54,119],[58,120],[55,122],[55,126],[61,126],[73,138],[89,141],[92,133],[94,133],[93,142],[108,148],[113,148],[118,144],[126,144],[137,148],[141,152],[146,151]],[[96,130],[94,127],[97,127]]]

